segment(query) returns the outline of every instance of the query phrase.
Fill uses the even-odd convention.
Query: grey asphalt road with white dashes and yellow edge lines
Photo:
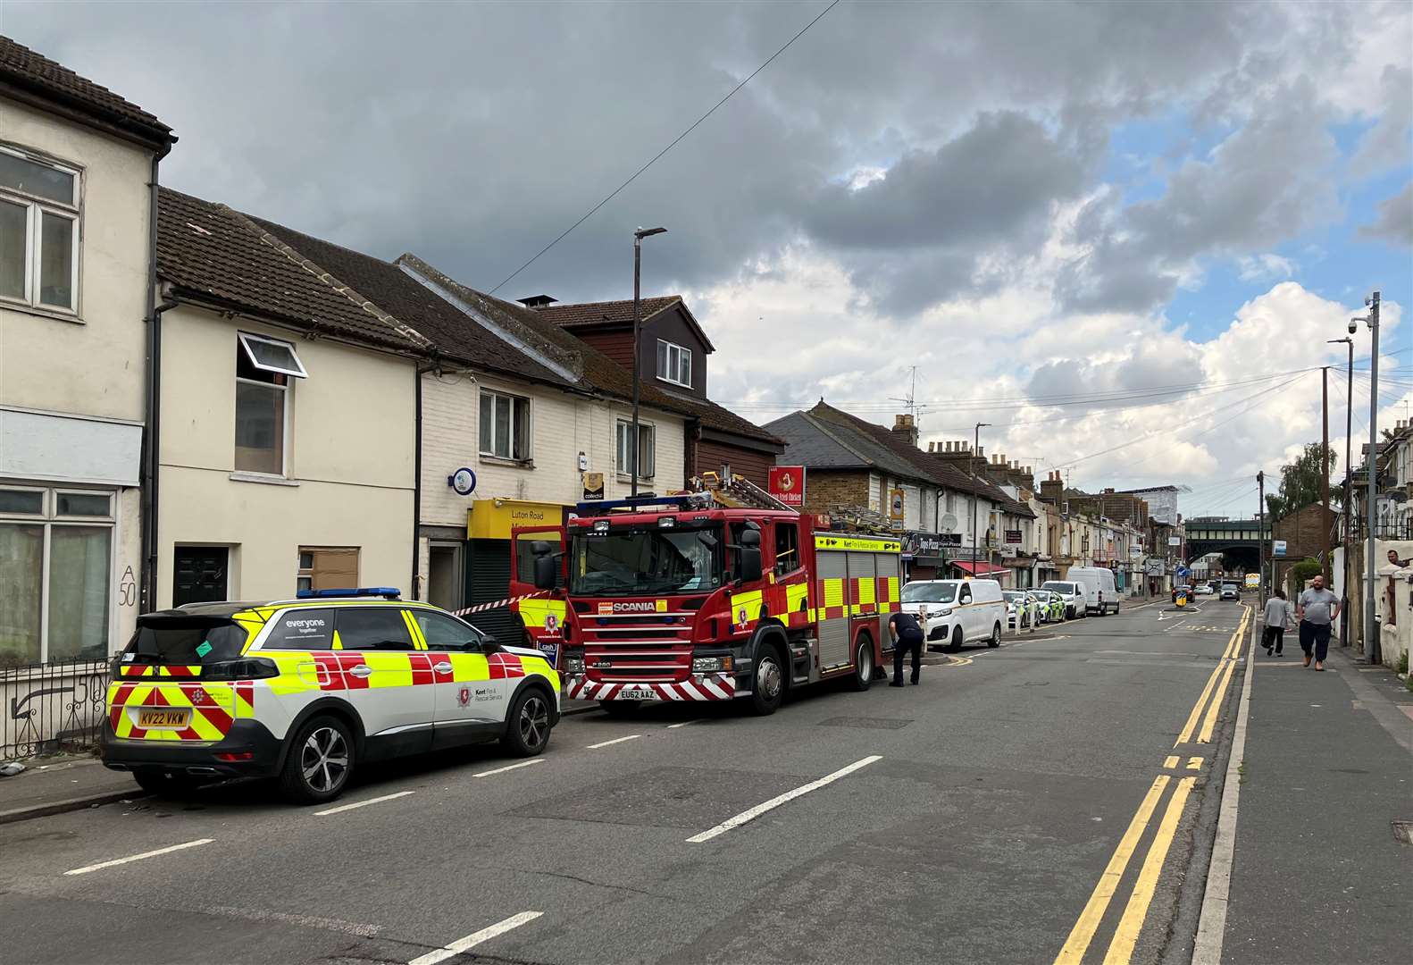
[[[495,747],[401,762],[336,804],[372,803],[332,814],[226,786],[0,827],[0,949],[136,965],[1181,961],[1243,608],[1166,610],[968,649],[918,687],[800,694],[770,718],[567,718],[536,763],[500,770],[517,762]]]

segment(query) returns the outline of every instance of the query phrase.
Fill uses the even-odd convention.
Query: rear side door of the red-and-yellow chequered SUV
[[[431,750],[435,719],[432,661],[413,641],[406,609],[341,606],[333,653],[346,697],[363,719],[373,757]]]

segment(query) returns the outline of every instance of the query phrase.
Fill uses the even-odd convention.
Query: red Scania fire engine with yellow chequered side
[[[738,698],[771,714],[794,687],[865,689],[892,660],[896,538],[711,493],[584,503],[557,531],[558,548],[534,530],[541,595],[517,608],[533,641],[561,643],[565,697],[615,714]]]

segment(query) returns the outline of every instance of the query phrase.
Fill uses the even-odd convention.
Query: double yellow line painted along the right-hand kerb
[[[1202,688],[1201,697],[1197,698],[1193,712],[1187,715],[1187,723],[1177,736],[1174,747],[1188,743],[1193,739],[1193,732],[1197,729],[1198,721],[1202,722],[1198,732],[1198,743],[1211,742],[1212,729],[1217,726],[1217,715],[1221,712],[1226,688],[1231,685],[1232,670],[1236,667],[1241,640],[1246,633],[1249,617],[1251,610],[1243,609],[1241,624],[1232,633],[1231,640],[1226,641],[1226,649],[1222,651],[1217,667],[1212,668],[1211,677],[1207,678],[1207,685]],[[1202,718],[1204,708],[1207,708],[1205,718]],[[1169,756],[1163,762],[1163,766],[1174,769],[1177,763],[1177,756]],[[1187,770],[1197,770],[1200,767],[1200,757],[1188,759]],[[1123,914],[1113,931],[1113,938],[1109,941],[1109,949],[1104,955],[1104,965],[1125,965],[1133,957],[1133,948],[1137,945],[1139,933],[1143,930],[1143,921],[1147,918],[1149,906],[1153,903],[1153,894],[1163,873],[1163,862],[1167,860],[1167,852],[1173,846],[1173,838],[1177,835],[1177,825],[1183,819],[1183,808],[1187,807],[1193,786],[1197,784],[1195,776],[1174,780],[1169,774],[1159,774],[1153,780],[1147,794],[1143,795],[1142,804],[1139,804],[1137,814],[1133,815],[1128,829],[1119,839],[1119,846],[1113,849],[1113,856],[1109,858],[1109,863],[1099,876],[1099,883],[1095,886],[1088,903],[1085,903],[1084,911],[1080,913],[1080,920],[1074,923],[1070,938],[1056,957],[1056,965],[1080,965],[1084,961],[1085,954],[1089,951],[1089,944],[1094,941],[1094,935],[1099,930],[1105,913],[1109,910],[1109,903],[1123,883],[1123,873],[1128,870],[1129,860],[1137,851],[1139,842],[1147,831],[1149,822],[1153,819],[1153,814],[1157,811],[1157,805],[1170,784],[1174,786],[1173,795],[1167,801],[1167,807],[1157,825],[1157,832],[1149,845],[1147,855],[1143,858],[1142,868],[1139,868],[1137,877],[1133,882],[1133,892],[1129,894],[1129,901],[1123,907]]]

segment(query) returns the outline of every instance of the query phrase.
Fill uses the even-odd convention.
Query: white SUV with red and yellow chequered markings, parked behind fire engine
[[[390,588],[188,603],[137,617],[113,660],[102,757],[153,793],[273,777],[338,797],[357,764],[499,739],[544,750],[560,675]]]

